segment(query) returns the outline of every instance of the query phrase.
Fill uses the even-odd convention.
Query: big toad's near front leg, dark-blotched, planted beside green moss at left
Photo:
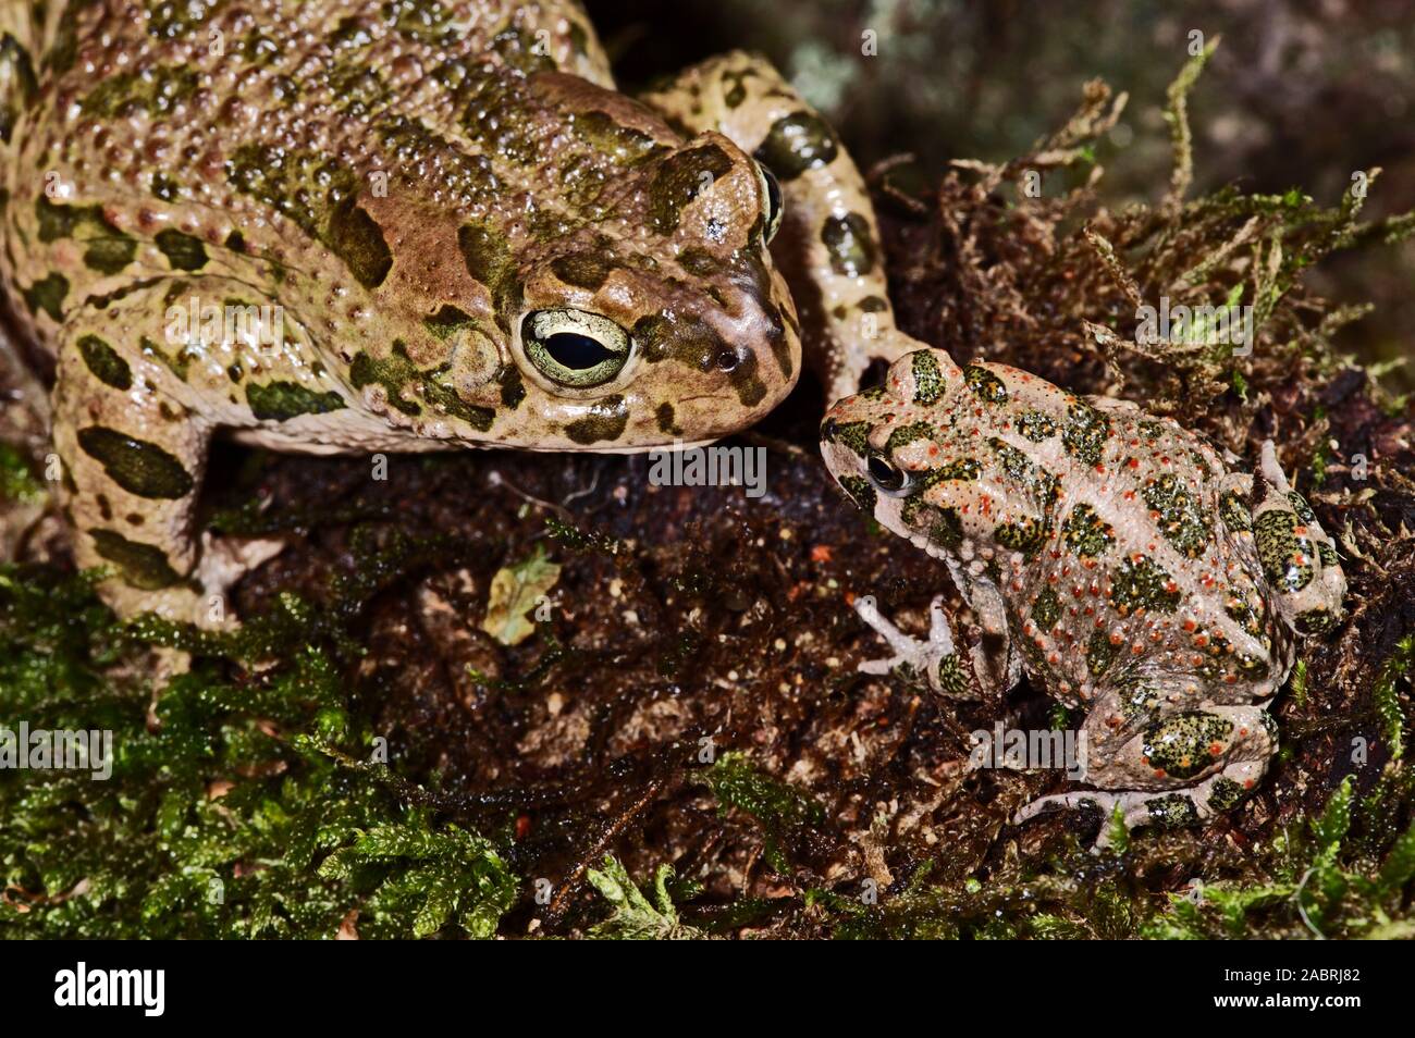
[[[272,380],[293,346],[262,346],[259,328],[242,327],[224,341],[228,322],[221,320],[207,324],[205,338],[198,328],[170,341],[170,304],[184,310],[194,296],[219,303],[225,314],[236,293],[249,291],[216,279],[188,283],[180,300],[168,298],[170,288],[154,283],[103,308],[82,308],[61,330],[54,387],[59,501],[76,530],[76,563],[110,573],[99,593],[119,615],[156,612],[221,628],[232,624],[221,593],[262,552],[236,559],[204,552],[197,537],[194,512],[214,430],[260,424],[252,400],[286,412],[345,402],[325,386]],[[283,325],[270,331],[283,334]]]

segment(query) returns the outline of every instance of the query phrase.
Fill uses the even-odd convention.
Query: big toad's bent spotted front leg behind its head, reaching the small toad
[[[775,175],[784,214],[771,256],[791,286],[808,359],[831,400],[855,393],[872,361],[890,363],[925,345],[894,327],[860,171],[766,58],[740,51],[710,58],[642,100],[688,133],[724,134]]]

